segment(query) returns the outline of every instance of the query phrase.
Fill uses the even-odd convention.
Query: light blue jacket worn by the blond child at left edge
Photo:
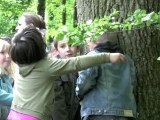
[[[6,120],[13,100],[12,85],[8,75],[0,75],[0,120]]]

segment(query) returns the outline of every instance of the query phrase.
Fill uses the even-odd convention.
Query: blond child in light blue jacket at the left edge
[[[0,39],[0,120],[6,120],[12,103],[11,77],[13,75],[10,44]]]

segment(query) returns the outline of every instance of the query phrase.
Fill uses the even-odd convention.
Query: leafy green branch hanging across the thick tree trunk
[[[89,20],[85,24],[78,24],[76,28],[71,25],[62,26],[55,29],[52,35],[55,39],[68,39],[72,45],[83,44],[85,40],[96,40],[106,31],[114,30],[131,30],[142,27],[154,26],[160,29],[160,13],[146,13],[145,10],[136,10],[132,15],[129,15],[123,23],[116,21],[119,11],[114,10],[109,16],[104,16],[102,19]]]

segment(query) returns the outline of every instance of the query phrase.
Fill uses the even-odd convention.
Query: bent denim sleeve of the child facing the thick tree
[[[83,97],[96,85],[96,78],[98,76],[97,67],[88,68],[79,72],[77,78],[76,94],[79,97]]]

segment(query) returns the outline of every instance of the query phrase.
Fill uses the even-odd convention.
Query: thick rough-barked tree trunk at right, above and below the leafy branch
[[[102,18],[113,9],[120,11],[120,21],[136,9],[160,11],[160,0],[77,0],[79,23]],[[137,120],[160,120],[160,31],[151,27],[120,32],[119,43],[137,68]]]

